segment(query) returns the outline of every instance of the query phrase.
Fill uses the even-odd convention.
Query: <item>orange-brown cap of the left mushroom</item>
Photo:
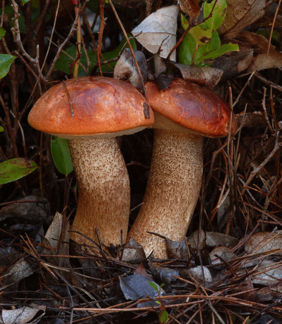
[[[145,116],[146,99],[127,82],[86,76],[64,83],[36,101],[28,116],[33,128],[61,138],[84,139],[131,134],[154,123],[151,109],[150,118]]]

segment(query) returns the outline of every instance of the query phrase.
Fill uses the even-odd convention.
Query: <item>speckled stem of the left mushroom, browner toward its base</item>
[[[130,185],[116,139],[71,139],[69,146],[79,194],[71,230],[98,242],[97,227],[102,243],[121,243],[121,229],[127,233]],[[81,243],[83,237],[70,233],[70,238]]]

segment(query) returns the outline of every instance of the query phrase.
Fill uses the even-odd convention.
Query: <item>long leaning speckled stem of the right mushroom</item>
[[[144,204],[128,233],[146,255],[166,259],[165,241],[184,239],[190,224],[202,178],[203,136],[155,129],[152,161]]]

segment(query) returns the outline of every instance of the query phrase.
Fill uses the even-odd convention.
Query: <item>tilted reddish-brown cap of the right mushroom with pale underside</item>
[[[173,79],[165,90],[160,90],[154,82],[147,82],[145,87],[151,108],[159,113],[155,114],[155,128],[162,128],[164,118],[159,122],[157,119],[158,116],[164,116],[176,124],[173,127],[173,123],[167,123],[163,127],[166,130],[178,129],[209,137],[228,135],[233,112],[212,90],[180,78]],[[236,130],[237,123],[233,115],[231,134]]]

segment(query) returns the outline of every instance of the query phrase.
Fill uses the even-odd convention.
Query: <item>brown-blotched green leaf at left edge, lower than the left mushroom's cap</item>
[[[26,158],[17,157],[0,163],[0,184],[15,181],[36,170],[38,165]]]

